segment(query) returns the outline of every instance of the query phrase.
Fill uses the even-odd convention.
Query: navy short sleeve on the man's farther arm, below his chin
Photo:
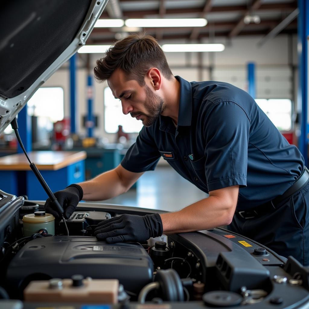
[[[152,132],[144,126],[136,142],[126,152],[121,166],[135,173],[153,171],[160,157]]]

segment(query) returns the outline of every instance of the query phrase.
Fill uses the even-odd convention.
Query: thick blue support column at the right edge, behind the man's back
[[[305,165],[308,166],[308,41],[309,36],[309,2],[298,0],[298,104],[302,105],[301,135],[298,147],[301,151]]]

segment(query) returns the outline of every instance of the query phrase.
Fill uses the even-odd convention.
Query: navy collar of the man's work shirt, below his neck
[[[175,76],[180,83],[180,99],[179,99],[179,112],[178,112],[178,126],[191,125],[192,117],[192,85],[180,76]],[[174,131],[171,127],[172,120],[170,117],[160,115],[160,130]]]

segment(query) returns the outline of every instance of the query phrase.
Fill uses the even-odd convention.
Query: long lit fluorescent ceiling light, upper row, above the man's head
[[[205,18],[156,18],[156,19],[127,19],[127,27],[204,27]]]

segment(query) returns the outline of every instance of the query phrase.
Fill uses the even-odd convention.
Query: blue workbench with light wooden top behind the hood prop
[[[85,180],[85,151],[31,151],[28,156],[52,192]],[[27,195],[30,200],[48,197],[23,153],[0,158],[0,188],[16,196]]]

